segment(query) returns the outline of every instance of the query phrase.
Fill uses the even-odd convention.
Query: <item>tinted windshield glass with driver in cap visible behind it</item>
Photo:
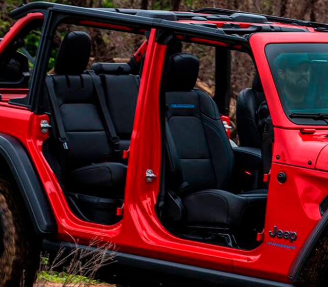
[[[288,116],[328,115],[328,44],[270,44],[265,53]]]

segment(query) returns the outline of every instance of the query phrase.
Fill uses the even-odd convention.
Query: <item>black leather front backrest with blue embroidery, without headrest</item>
[[[167,119],[183,181],[192,191],[226,189],[233,171],[233,152],[218,109],[200,90],[167,92]],[[215,165],[213,162],[215,161]]]

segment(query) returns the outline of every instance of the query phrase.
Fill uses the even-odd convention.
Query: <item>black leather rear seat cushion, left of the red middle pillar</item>
[[[126,175],[127,166],[122,163],[96,163],[72,171],[67,183],[71,191],[120,198],[124,194]]]

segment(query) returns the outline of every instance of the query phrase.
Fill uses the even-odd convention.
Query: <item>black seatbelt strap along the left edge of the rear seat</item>
[[[65,133],[65,128],[63,124],[63,120],[61,119],[61,114],[59,111],[59,104],[58,104],[58,99],[55,94],[55,88],[53,84],[53,78],[52,76],[46,76],[46,89],[51,101],[51,106],[53,110],[53,116],[54,120],[57,126],[57,131],[58,131],[58,136],[59,136],[59,141],[61,144],[63,144],[64,150],[68,150],[68,138]]]

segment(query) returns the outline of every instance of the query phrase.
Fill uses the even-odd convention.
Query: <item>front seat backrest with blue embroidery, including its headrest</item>
[[[167,143],[168,157],[173,157],[181,181],[189,183],[191,192],[226,189],[233,152],[213,99],[194,89],[198,69],[199,60],[191,54],[170,57],[166,116],[172,142]]]

